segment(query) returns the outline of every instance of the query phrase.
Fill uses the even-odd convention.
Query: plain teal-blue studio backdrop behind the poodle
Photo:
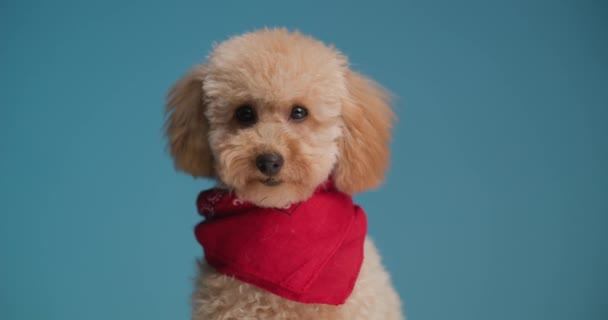
[[[0,319],[187,319],[167,89],[287,26],[399,98],[357,197],[410,319],[608,319],[604,1],[0,2]]]

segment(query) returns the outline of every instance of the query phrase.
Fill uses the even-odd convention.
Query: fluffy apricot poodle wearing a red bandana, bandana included
[[[198,200],[205,259],[193,319],[403,319],[351,202],[381,184],[389,165],[395,116],[385,89],[351,70],[333,46],[267,28],[216,45],[170,89],[166,114],[175,167],[218,183]],[[321,200],[308,205],[314,199]],[[254,213],[216,219],[218,206]],[[348,258],[335,256],[338,247]],[[305,266],[283,270],[293,261]]]

